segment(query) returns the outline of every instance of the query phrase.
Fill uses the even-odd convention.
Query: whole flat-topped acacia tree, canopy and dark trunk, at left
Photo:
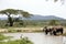
[[[31,15],[29,12],[25,12],[23,10],[15,10],[15,9],[1,10],[0,14],[8,15],[8,21],[9,21],[10,26],[13,25],[13,20],[12,20],[11,14],[22,14],[22,16],[24,16],[24,18],[30,18],[30,15]]]

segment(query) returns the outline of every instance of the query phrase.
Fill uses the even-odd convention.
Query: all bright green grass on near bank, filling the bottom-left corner
[[[9,40],[9,37],[0,34],[0,44],[33,44],[33,42],[31,42],[28,37],[21,37],[20,40],[15,41],[9,40],[7,42],[3,42],[3,40]]]

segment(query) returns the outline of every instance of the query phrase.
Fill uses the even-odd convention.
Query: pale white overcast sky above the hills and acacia
[[[66,19],[66,0],[65,3],[58,0],[0,0],[0,10],[21,9],[32,14],[56,15]],[[0,15],[2,16],[2,15]],[[6,16],[6,15],[3,15]]]

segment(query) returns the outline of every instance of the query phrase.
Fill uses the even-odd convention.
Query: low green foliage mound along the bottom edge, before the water
[[[0,44],[33,44],[28,37],[22,37],[21,40],[0,42]]]

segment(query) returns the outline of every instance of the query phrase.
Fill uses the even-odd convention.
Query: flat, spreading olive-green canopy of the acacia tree
[[[23,10],[15,10],[15,9],[6,9],[6,10],[1,10],[0,14],[7,14],[7,15],[11,15],[11,14],[22,14],[24,18],[29,18],[31,14],[26,11]]]

